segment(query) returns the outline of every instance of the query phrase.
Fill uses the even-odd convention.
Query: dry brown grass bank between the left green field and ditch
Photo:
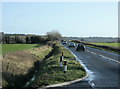
[[[13,44],[17,45],[17,44]],[[46,55],[52,50],[50,46],[38,46],[27,44],[22,50],[9,52],[4,55],[2,60],[2,86],[5,89],[23,89],[26,82],[33,77],[34,72],[39,67],[39,61],[45,58]],[[38,46],[37,48],[31,48]],[[16,47],[16,48],[15,48]],[[19,45],[20,47],[20,45]],[[31,48],[31,49],[28,49]],[[14,46],[14,49],[18,49],[18,46]],[[7,51],[8,52],[8,51]]]

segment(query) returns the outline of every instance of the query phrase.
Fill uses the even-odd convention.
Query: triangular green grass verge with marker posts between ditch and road
[[[68,71],[63,72],[63,67],[59,66],[59,58],[64,53],[64,60],[67,61]],[[60,43],[56,42],[52,52],[41,63],[39,72],[35,80],[28,87],[44,87],[51,84],[63,83],[82,78],[86,75],[86,71],[75,60],[75,57],[64,48]]]

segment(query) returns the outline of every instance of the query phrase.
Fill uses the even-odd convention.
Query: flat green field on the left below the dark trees
[[[39,47],[39,44],[1,44],[2,45],[2,54],[9,52],[14,52],[18,50],[30,49]]]

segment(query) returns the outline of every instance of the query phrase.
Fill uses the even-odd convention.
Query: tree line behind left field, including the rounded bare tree
[[[45,36],[40,35],[2,35],[1,42],[3,44],[37,44],[46,43],[48,41],[60,40],[61,34],[58,31],[47,32]]]

